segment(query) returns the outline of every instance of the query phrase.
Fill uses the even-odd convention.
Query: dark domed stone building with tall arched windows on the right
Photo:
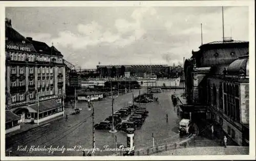
[[[185,61],[187,105],[205,110],[238,145],[249,144],[249,42],[224,40],[201,45]]]

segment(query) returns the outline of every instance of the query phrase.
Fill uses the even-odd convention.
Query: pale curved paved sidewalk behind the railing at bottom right
[[[153,155],[249,155],[249,147],[196,147],[164,151]]]

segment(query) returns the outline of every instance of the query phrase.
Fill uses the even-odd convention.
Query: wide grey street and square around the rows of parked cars
[[[176,93],[182,93],[183,90],[176,90]],[[146,89],[141,89],[140,93],[146,92]],[[154,133],[155,146],[179,142],[178,124],[179,118],[176,110],[170,99],[175,90],[164,90],[163,93],[156,93],[154,96],[159,98],[158,102],[148,104],[140,104],[141,107],[146,107],[149,115],[140,129],[135,131],[135,150],[152,147]],[[138,96],[139,90],[134,90],[134,96]],[[130,103],[130,104],[129,104]],[[115,98],[114,112],[118,109],[132,104],[132,93],[120,95]],[[50,122],[49,124],[37,127],[25,133],[6,139],[6,149],[11,150],[11,156],[80,156],[82,151],[79,147],[92,148],[92,111],[88,111],[87,102],[78,102],[77,108],[81,108],[81,113],[77,115],[69,115]],[[72,109],[72,105],[66,105],[66,113]],[[104,101],[94,102],[95,124],[103,121],[112,114],[111,98],[106,98]],[[166,122],[166,114],[168,114],[168,122]],[[65,114],[66,115],[66,114]],[[26,124],[25,124],[26,125]],[[102,151],[97,151],[96,155],[109,155],[115,151],[104,151],[104,146],[115,148],[115,135],[117,144],[126,146],[126,133],[118,131],[109,133],[107,130],[95,130],[95,145]],[[26,147],[27,146],[27,147]],[[40,148],[59,147],[74,148],[53,153],[38,150],[29,151],[31,147]],[[31,148],[32,150],[32,148]],[[81,150],[81,149],[80,149]],[[6,155],[9,155],[7,152]]]

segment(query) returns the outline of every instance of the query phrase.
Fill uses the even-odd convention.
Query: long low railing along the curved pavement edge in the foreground
[[[155,153],[174,150],[174,149],[182,149],[182,148],[191,148],[191,147],[212,147],[212,146],[221,146],[221,140],[202,140],[202,141],[189,141],[182,144],[173,143],[173,144],[165,144],[156,147],[146,148],[140,151],[136,151],[135,155],[152,155]]]

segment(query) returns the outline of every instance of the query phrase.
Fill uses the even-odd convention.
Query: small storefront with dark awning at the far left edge
[[[5,111],[5,133],[20,129],[20,117],[13,112]]]

